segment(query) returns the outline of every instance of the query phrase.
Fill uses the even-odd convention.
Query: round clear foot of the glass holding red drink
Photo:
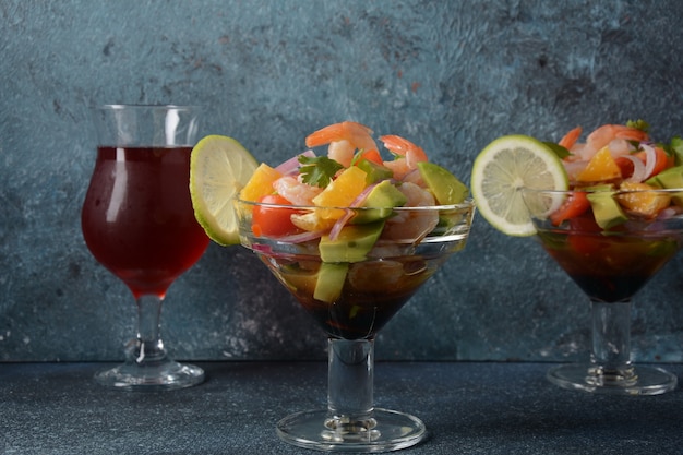
[[[101,385],[124,391],[167,391],[190,387],[204,382],[204,370],[172,360],[163,362],[125,362],[95,374]]]

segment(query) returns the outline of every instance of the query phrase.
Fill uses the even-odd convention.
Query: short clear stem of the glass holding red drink
[[[163,299],[155,295],[137,298],[137,338],[132,352],[136,363],[158,362],[166,359],[161,342],[160,315]]]

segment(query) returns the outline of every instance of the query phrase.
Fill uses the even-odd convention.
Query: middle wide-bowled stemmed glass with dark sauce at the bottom
[[[380,237],[363,258],[356,241],[340,242],[336,254],[349,262],[325,262],[320,234],[274,238],[253,234],[252,209],[292,206],[237,201],[242,246],[253,251],[297,298],[328,337],[327,408],[304,410],[277,423],[284,441],[322,451],[385,452],[417,444],[424,424],[408,414],[374,407],[373,350],[378,332],[439,267],[467,241],[471,200],[450,206],[394,208],[405,217],[406,237]],[[293,207],[299,214],[320,207]],[[340,208],[323,208],[340,209]],[[343,208],[360,219],[384,208]],[[438,227],[415,238],[414,226],[438,217]]]

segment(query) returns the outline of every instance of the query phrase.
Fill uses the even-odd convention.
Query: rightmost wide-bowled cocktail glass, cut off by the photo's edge
[[[615,191],[615,202],[680,201],[683,190]],[[672,259],[683,242],[683,215],[675,204],[656,217],[623,211],[625,218],[601,228],[592,209],[553,224],[549,214],[586,192],[522,190],[536,238],[590,299],[590,360],[548,371],[550,382],[571,390],[614,395],[657,395],[672,391],[676,376],[631,361],[631,307],[636,292]],[[604,200],[602,201],[604,202]],[[676,202],[678,203],[678,202]]]

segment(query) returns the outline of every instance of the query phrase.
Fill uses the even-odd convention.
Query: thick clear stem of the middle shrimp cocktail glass
[[[374,342],[329,338],[328,349],[327,427],[371,429]]]

